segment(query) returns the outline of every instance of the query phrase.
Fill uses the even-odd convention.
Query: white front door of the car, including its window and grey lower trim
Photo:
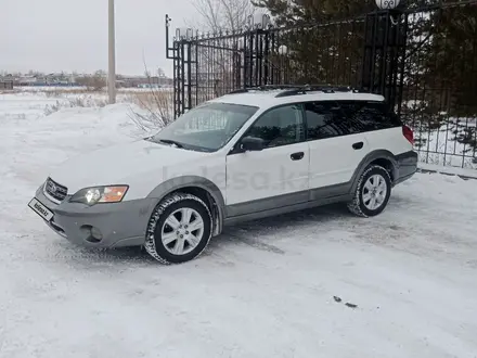
[[[228,216],[308,201],[309,149],[300,106],[284,105],[266,112],[244,137],[248,136],[262,139],[265,149],[228,155]]]

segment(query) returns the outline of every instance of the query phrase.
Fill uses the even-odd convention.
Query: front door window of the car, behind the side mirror
[[[267,112],[248,129],[247,136],[263,139],[267,148],[301,142],[305,130],[299,105],[285,105]]]

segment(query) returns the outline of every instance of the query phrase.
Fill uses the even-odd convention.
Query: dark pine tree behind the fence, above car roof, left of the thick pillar
[[[286,67],[281,68],[283,81],[357,86],[363,16],[375,8],[374,0],[255,0],[254,4],[266,8],[275,26],[288,28],[274,37],[275,48],[287,49],[274,59],[275,67]]]

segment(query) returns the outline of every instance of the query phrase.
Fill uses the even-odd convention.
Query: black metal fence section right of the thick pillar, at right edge
[[[477,168],[477,2],[410,11],[401,117],[429,164]]]

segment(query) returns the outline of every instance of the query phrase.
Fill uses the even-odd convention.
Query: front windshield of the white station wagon
[[[199,105],[177,118],[150,140],[186,150],[215,152],[225,145],[258,107],[230,103]]]

